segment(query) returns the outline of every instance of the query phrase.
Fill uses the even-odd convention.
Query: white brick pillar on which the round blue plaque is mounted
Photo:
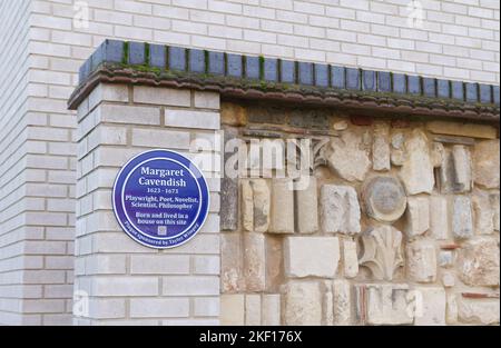
[[[101,84],[79,108],[75,290],[85,291],[91,305],[75,324],[218,322],[219,186],[209,186],[213,205],[204,228],[169,250],[135,242],[110,205],[115,177],[131,156],[158,147],[193,156],[190,141],[214,137],[219,128],[218,107],[216,93]],[[160,116],[173,108],[197,117],[187,118],[189,125],[170,125]],[[154,118],[145,123],[138,109]],[[219,149],[207,151],[218,155]]]

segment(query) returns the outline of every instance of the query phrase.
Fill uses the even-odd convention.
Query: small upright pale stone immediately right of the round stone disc
[[[409,238],[423,235],[430,229],[430,201],[428,197],[409,197],[405,213],[405,232]]]

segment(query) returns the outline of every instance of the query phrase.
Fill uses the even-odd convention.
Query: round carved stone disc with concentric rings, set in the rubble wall
[[[366,213],[375,220],[393,222],[405,212],[407,198],[399,179],[375,177],[363,189]]]

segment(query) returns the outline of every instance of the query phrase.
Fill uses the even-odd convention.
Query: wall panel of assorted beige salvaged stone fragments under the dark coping
[[[243,102],[222,122],[247,155],[222,183],[222,324],[499,324],[498,129]],[[287,138],[311,139],[306,185],[263,161]]]

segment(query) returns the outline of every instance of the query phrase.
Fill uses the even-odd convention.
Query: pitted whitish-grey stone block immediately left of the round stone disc
[[[360,206],[353,187],[324,185],[321,190],[322,229],[327,233],[361,231]]]

